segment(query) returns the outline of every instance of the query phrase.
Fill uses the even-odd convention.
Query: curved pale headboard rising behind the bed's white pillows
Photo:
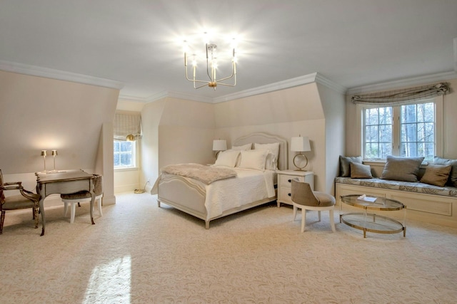
[[[255,132],[249,135],[239,137],[233,142],[233,146],[246,145],[248,143],[272,144],[279,142],[278,169],[288,169],[288,145],[287,140],[277,135],[271,135],[264,132]]]

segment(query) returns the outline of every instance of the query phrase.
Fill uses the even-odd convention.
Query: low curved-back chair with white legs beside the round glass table
[[[330,194],[313,191],[311,186],[306,182],[298,182],[294,179],[291,182],[293,221],[295,221],[297,209],[301,209],[301,232],[305,231],[306,210],[318,211],[319,221],[321,221],[321,211],[328,210],[330,213],[331,230],[335,232],[335,221],[333,219],[335,198]]]

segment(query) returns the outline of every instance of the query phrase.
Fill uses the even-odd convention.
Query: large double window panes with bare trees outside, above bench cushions
[[[425,157],[436,155],[436,103],[381,108],[364,107],[363,159],[385,159],[387,155]]]

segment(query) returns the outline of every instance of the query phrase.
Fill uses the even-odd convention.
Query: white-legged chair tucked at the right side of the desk
[[[95,189],[95,201],[94,205],[97,203],[99,205],[99,214],[103,216],[101,212],[101,198],[103,197],[103,176],[94,174],[94,189]],[[68,211],[68,205],[71,204],[70,212],[70,223],[74,223],[74,214],[76,213],[76,204],[81,206],[79,203],[84,201],[91,201],[92,196],[87,191],[81,191],[71,194],[61,194],[61,199],[64,201],[64,216]],[[93,206],[94,207],[94,206]],[[94,211],[94,209],[92,209]]]

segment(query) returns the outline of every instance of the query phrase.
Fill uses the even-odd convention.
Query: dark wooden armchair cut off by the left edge
[[[19,190],[21,194],[5,196],[6,190]],[[0,170],[0,234],[3,232],[6,210],[33,209],[32,215],[35,219],[35,228],[38,228],[39,194],[27,191],[22,187],[22,182],[3,182],[3,174]]]

